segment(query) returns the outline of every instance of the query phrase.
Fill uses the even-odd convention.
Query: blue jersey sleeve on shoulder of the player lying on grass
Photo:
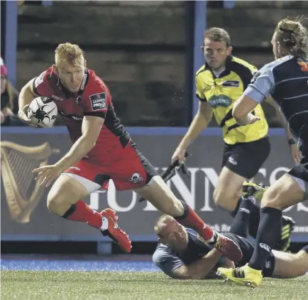
[[[184,262],[180,257],[175,255],[175,252],[165,245],[158,245],[154,254],[153,262],[158,266],[165,274],[172,277],[172,272],[184,265]]]

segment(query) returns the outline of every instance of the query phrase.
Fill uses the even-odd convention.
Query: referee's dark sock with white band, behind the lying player
[[[241,200],[238,200],[238,203],[240,205],[231,225],[230,232],[241,237],[247,237],[248,225],[253,206],[255,205],[255,198],[241,198]]]

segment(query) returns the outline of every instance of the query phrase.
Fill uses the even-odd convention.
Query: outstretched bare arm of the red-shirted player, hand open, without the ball
[[[72,145],[70,151],[60,159],[56,164],[35,168],[34,173],[38,173],[36,180],[40,185],[50,186],[62,171],[73,166],[77,161],[86,156],[95,146],[97,136],[104,124],[101,117],[84,116],[82,120],[82,136]]]

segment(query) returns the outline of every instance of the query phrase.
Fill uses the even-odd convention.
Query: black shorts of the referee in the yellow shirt
[[[253,178],[270,154],[268,136],[248,143],[225,144],[222,166],[244,178]]]

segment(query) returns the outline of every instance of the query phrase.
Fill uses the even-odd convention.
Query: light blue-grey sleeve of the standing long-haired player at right
[[[272,64],[268,64],[255,73],[243,94],[260,103],[274,92],[274,88],[273,67]]]

